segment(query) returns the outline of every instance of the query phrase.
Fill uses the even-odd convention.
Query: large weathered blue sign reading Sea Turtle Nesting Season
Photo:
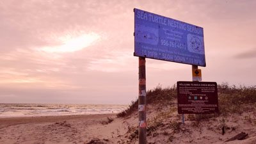
[[[134,56],[205,67],[204,29],[134,8]]]

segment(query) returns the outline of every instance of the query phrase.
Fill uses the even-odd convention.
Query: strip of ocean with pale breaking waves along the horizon
[[[0,104],[0,118],[119,113],[127,107],[118,104]]]

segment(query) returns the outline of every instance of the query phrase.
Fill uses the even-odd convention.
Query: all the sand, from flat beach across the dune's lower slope
[[[180,124],[180,115],[172,108],[148,107],[149,144],[256,144],[256,112],[219,116],[201,120],[188,118]],[[221,134],[225,119],[225,134]],[[138,143],[138,113],[125,118],[108,115],[41,116],[0,118],[0,143]],[[225,142],[240,132],[245,140]]]

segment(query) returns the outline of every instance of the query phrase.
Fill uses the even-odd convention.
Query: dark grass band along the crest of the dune
[[[244,111],[254,111],[256,106],[256,86],[230,86],[228,83],[218,84],[218,102],[220,113],[218,115],[228,115],[230,113],[243,113]],[[177,106],[177,87],[174,84],[168,88],[156,86],[147,91],[147,104],[166,106]],[[159,105],[160,104],[160,105]],[[138,110],[138,99],[131,102],[127,109],[117,114],[118,117],[129,116]],[[202,116],[202,119],[209,115]]]

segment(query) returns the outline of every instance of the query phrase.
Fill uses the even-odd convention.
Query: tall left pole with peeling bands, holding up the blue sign
[[[139,144],[147,143],[147,122],[146,122],[146,60],[139,57]]]

